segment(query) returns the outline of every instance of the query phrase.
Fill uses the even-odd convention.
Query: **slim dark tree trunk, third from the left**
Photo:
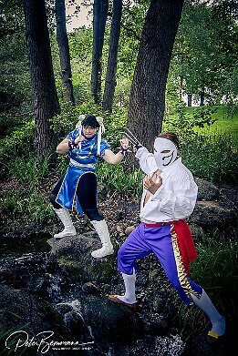
[[[91,94],[95,104],[101,101],[101,57],[108,11],[109,0],[94,0]]]

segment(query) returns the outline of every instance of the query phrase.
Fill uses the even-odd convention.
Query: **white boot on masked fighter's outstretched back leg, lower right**
[[[213,338],[218,338],[222,336],[225,332],[225,320],[222,318],[222,315],[216,310],[212,304],[212,300],[208,297],[205,290],[202,290],[202,295],[197,298],[194,294],[191,294],[191,298],[196,304],[197,307],[202,309],[202,311],[207,314],[210,321],[212,322],[212,331],[209,331],[210,336]]]

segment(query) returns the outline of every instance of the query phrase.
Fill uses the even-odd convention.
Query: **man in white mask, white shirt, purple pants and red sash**
[[[189,277],[189,264],[197,252],[186,219],[195,207],[198,187],[191,171],[181,163],[178,149],[176,134],[165,132],[155,138],[153,154],[146,147],[137,150],[136,158],[147,175],[140,205],[141,223],[118,252],[125,294],[109,295],[109,300],[138,309],[136,259],[155,253],[181,300],[188,306],[193,301],[211,320],[207,340],[212,343],[224,334],[225,320],[202,287]]]

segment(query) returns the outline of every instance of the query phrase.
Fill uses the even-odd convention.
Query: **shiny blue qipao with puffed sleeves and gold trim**
[[[83,136],[83,132],[81,133]],[[67,138],[76,139],[78,129],[71,131]],[[100,154],[98,156],[98,133],[93,137],[87,138],[80,142],[75,148],[69,149],[69,165],[62,185],[57,193],[56,201],[68,210],[73,210],[76,203],[78,213],[83,214],[80,207],[76,192],[80,177],[85,173],[95,174],[95,166],[98,158],[104,155],[105,149],[110,149],[109,144],[102,138],[100,143]]]

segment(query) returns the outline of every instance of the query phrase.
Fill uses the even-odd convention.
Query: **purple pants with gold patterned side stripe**
[[[148,228],[143,223],[129,234],[118,252],[118,270],[125,274],[136,271],[136,259],[155,253],[160,264],[178,290],[181,300],[190,305],[191,296],[201,297],[202,287],[193,282],[185,272],[178,246],[175,225]]]

